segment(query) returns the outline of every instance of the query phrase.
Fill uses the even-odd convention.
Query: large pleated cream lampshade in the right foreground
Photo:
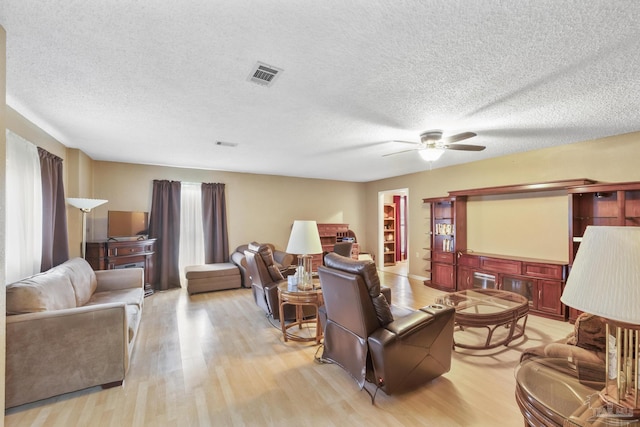
[[[587,227],[560,300],[610,320],[640,324],[640,227]]]

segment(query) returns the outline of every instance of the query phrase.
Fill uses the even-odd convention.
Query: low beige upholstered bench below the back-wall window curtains
[[[189,294],[235,289],[242,284],[238,266],[230,262],[190,265],[184,273]]]

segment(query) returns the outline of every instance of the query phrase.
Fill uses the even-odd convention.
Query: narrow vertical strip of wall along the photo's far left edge
[[[6,89],[7,89],[7,33],[0,26],[0,105],[6,105]],[[0,277],[6,275],[5,270],[5,188],[6,188],[6,164],[7,164],[7,109],[0,109],[0,165],[2,165],[2,174],[0,175]],[[0,310],[2,313],[7,312],[7,296],[4,292],[0,292]],[[6,315],[0,316],[0,409],[4,413],[4,378],[5,378],[5,346],[7,341]],[[0,421],[0,426],[4,425],[4,417]]]

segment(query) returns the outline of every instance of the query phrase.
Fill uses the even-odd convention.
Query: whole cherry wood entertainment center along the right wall
[[[469,251],[467,248],[467,201],[469,197],[474,196],[566,191],[569,194],[570,206],[573,206],[577,203],[573,202],[575,195],[604,191],[602,186],[603,184],[596,184],[589,179],[575,179],[451,191],[448,197],[423,199],[423,203],[430,205],[431,215],[428,256],[425,258],[430,263],[427,271],[431,277],[425,281],[425,285],[448,292],[472,288],[493,288],[516,292],[527,297],[532,313],[564,320],[567,317],[567,310],[560,302],[560,296],[573,257],[571,256],[567,263]],[[637,194],[630,198],[637,199],[636,203],[639,206],[637,212],[640,212],[640,184],[624,183],[606,186],[609,191],[613,191],[614,188],[624,188],[627,191],[635,188]],[[597,203],[597,200],[591,198],[591,201],[593,209],[593,203]],[[575,208],[572,210],[575,211]],[[589,211],[589,208],[584,207],[582,211]],[[573,220],[574,226],[570,227],[572,242],[575,237],[574,228],[579,228],[582,233],[586,225],[600,225],[601,221],[594,221],[593,216],[588,213],[581,214],[580,226],[575,226],[577,220]],[[610,220],[607,225],[613,225],[612,222],[617,225],[625,221],[624,219]],[[627,220],[627,225],[632,223],[633,221]],[[571,243],[569,250],[575,254],[574,246],[575,244]]]

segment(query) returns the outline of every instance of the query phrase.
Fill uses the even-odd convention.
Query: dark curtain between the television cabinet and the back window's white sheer
[[[149,237],[156,242],[156,290],[180,287],[180,181],[153,180]]]

